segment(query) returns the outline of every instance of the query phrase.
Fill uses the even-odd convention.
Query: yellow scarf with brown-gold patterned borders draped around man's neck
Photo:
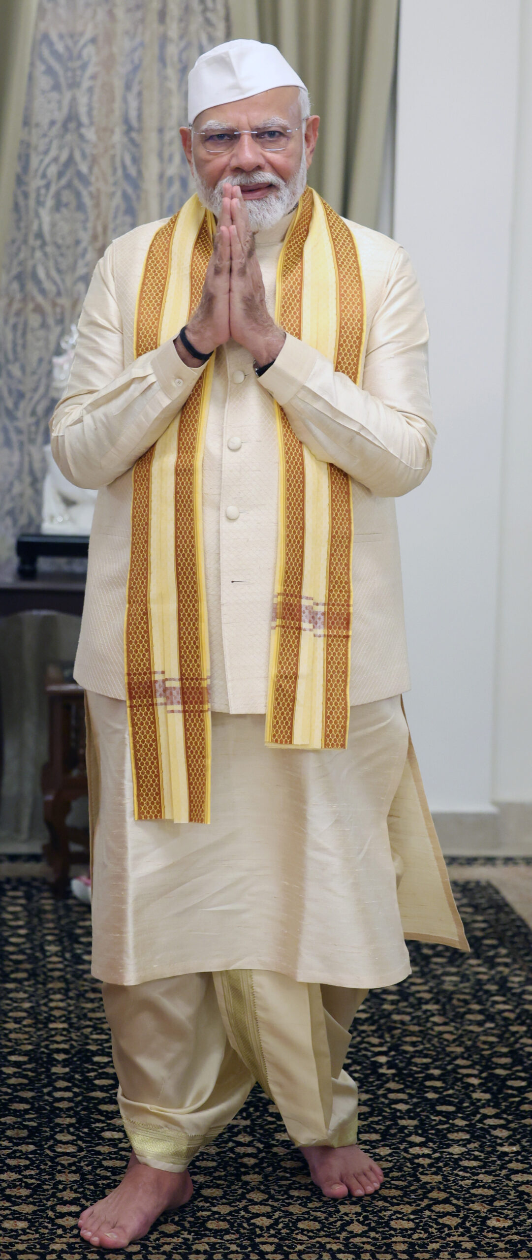
[[[135,355],[195,309],[216,222],[194,195],[155,233],[139,286]],[[277,266],[275,319],[359,381],[366,331],[357,244],[305,189]],[[125,617],[135,818],[211,818],[209,641],[202,462],[214,355],[180,413],[132,472]],[[272,399],[280,452],[279,543],[266,743],[344,748],[349,728],[350,481],[292,432]],[[170,507],[173,505],[173,507]]]

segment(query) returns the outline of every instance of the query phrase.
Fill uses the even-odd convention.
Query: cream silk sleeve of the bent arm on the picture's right
[[[369,328],[362,388],[289,335],[260,383],[316,459],[335,464],[373,494],[406,494],[426,478],[436,437],[427,340],[421,290],[398,246]]]

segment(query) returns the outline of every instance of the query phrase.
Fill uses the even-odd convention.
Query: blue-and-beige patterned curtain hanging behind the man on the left
[[[0,561],[40,523],[52,355],[113,237],[189,195],[179,139],[226,0],[39,0],[0,286]]]

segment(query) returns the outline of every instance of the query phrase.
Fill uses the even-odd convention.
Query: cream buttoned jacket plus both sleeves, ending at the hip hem
[[[256,237],[271,312],[290,218]],[[79,318],[67,391],[50,422],[52,450],[64,476],[98,490],[74,677],[87,690],[117,699],[126,694],[131,470],[200,374],[179,359],[173,341],[134,359],[137,287],[159,226],[135,228],[113,241],[100,260]],[[435,430],[429,329],[405,249],[358,223],[349,227],[366,286],[362,387],[292,336],[260,378],[251,354],[234,341],[216,354],[203,462],[214,711],[266,712],[277,541],[272,398],[313,454],[352,478],[350,703],[383,699],[410,687],[393,499],[420,485],[430,469]]]

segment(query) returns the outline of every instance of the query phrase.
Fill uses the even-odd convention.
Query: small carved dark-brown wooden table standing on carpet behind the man
[[[69,888],[71,844],[82,845],[77,857],[88,861],[88,829],[68,827],[67,816],[72,803],[87,796],[87,769],[84,761],[84,698],[77,683],[47,678],[49,706],[49,761],[43,767],[43,810],[49,832],[44,857],[53,874],[53,891],[66,897]]]

